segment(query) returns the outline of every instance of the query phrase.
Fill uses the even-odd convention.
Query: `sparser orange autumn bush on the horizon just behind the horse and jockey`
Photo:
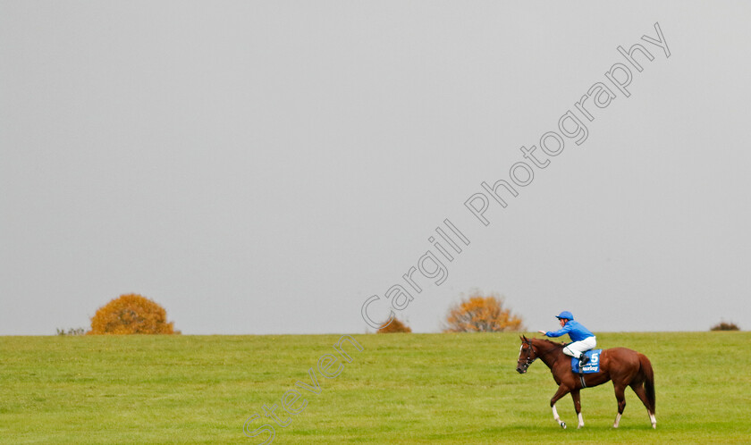
[[[454,305],[446,315],[443,332],[506,332],[524,329],[521,318],[503,307],[503,299],[475,292]]]

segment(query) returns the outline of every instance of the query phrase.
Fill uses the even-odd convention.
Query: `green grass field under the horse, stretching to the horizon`
[[[311,367],[320,393],[298,388],[308,405],[274,425],[274,443],[751,442],[751,332],[598,333],[598,346],[652,360],[656,430],[631,390],[612,429],[611,383],[582,391],[582,430],[561,399],[561,430],[545,365],[515,372],[514,334],[356,335],[364,350],[345,343],[353,361],[325,378],[318,358],[339,338],[3,337],[0,442],[260,443],[266,434],[243,434],[246,419],[280,405],[295,382],[312,384]]]

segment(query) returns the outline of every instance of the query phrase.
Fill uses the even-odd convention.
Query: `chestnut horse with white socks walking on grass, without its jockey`
[[[584,419],[581,416],[579,390],[601,385],[609,380],[612,380],[615,399],[618,400],[618,415],[615,416],[613,428],[618,428],[623,408],[626,407],[624,391],[627,386],[630,386],[644,403],[652,427],[657,427],[657,420],[654,418],[654,373],[649,358],[644,354],[628,348],[603,349],[600,353],[600,371],[580,375],[571,371],[571,357],[563,354],[565,344],[544,339],[527,339],[525,336],[520,339],[517,371],[519,374],[526,373],[527,367],[537,358],[550,368],[553,379],[558,383],[558,390],[553,394],[553,399],[550,399],[550,407],[553,408],[553,418],[562,428],[566,428],[566,423],[558,416],[555,402],[570,392],[571,399],[574,399],[574,409],[577,411],[578,428],[581,428],[584,426]]]

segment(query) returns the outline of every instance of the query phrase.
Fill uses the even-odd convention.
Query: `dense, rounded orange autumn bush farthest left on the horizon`
[[[165,308],[137,294],[121,295],[99,307],[87,334],[173,334]]]

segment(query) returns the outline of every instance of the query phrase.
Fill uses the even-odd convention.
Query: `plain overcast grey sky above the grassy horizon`
[[[363,302],[446,218],[470,244],[440,286],[421,278],[401,314],[417,332],[473,288],[532,330],[563,309],[595,331],[748,329],[748,17],[0,1],[0,334],[88,327],[129,292],[183,333],[366,332]],[[670,58],[640,40],[656,21]],[[654,60],[630,97],[479,223],[480,183],[508,180],[635,43]]]

